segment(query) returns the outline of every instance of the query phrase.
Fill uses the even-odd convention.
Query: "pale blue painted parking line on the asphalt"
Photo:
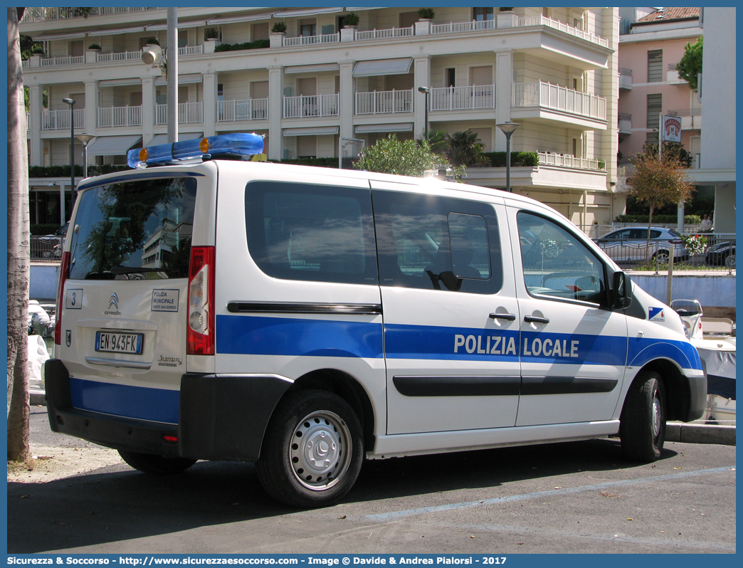
[[[717,474],[723,471],[735,471],[736,466],[730,465],[722,468],[700,469],[696,471],[680,471],[678,474],[666,474],[653,477],[641,477],[637,480],[620,480],[609,481],[606,483],[596,483],[594,485],[580,485],[580,487],[568,487],[562,489],[551,489],[550,491],[537,491],[536,493],[525,493],[520,495],[510,495],[509,497],[493,497],[493,499],[483,499],[477,501],[467,501],[465,503],[450,503],[449,505],[438,505],[432,507],[421,507],[418,509],[406,509],[404,511],[392,511],[389,513],[368,514],[364,518],[380,523],[386,523],[389,520],[400,517],[411,517],[416,514],[436,513],[439,511],[452,511],[455,509],[468,509],[470,507],[479,507],[484,505],[495,505],[500,503],[511,503],[513,501],[523,501],[529,499],[538,499],[540,497],[555,497],[559,495],[568,495],[572,493],[582,493],[583,491],[597,491],[607,488],[621,487],[623,485],[637,485],[639,483],[652,483],[655,481],[675,481],[685,477],[698,477],[706,474]]]

